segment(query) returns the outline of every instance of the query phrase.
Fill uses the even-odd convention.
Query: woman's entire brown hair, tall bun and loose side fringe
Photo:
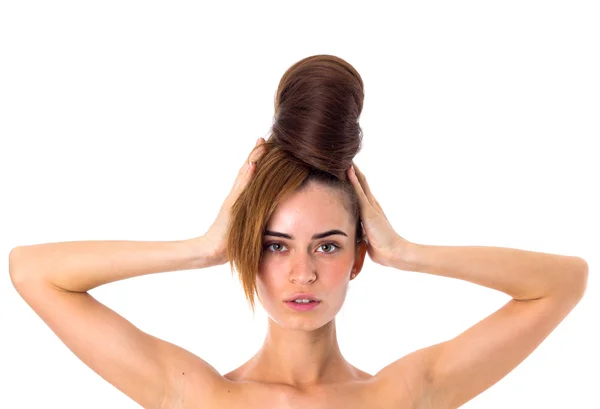
[[[278,203],[310,182],[345,192],[362,240],[358,200],[346,175],[362,143],[364,100],[358,72],[339,57],[314,55],[283,74],[271,134],[254,177],[231,208],[227,257],[254,311],[256,277],[267,222]]]

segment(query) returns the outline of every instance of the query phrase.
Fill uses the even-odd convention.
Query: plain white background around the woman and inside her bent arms
[[[0,406],[138,407],[19,297],[9,251],[203,234],[268,135],[281,75],[326,53],[362,75],[355,161],[403,237],[575,255],[590,266],[573,312],[464,407],[600,407],[596,2],[208,4],[1,3]],[[252,316],[228,265],[90,293],[221,373],[265,335],[264,311],[258,304]],[[368,259],[337,318],[340,346],[375,373],[508,300]]]

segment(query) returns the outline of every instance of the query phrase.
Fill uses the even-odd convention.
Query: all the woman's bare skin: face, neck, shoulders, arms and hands
[[[256,149],[250,159],[260,154]],[[229,209],[253,169],[249,164],[240,169],[201,237],[17,247],[9,257],[13,285],[83,363],[142,407],[157,409],[457,408],[529,356],[585,292],[588,266],[579,257],[406,241],[355,166],[348,176],[367,241],[355,243],[354,221],[342,211],[342,199],[323,186],[308,185],[282,202],[267,230],[294,238],[265,235],[267,253],[257,281],[269,330],[256,355],[229,373],[220,374],[189,351],[140,331],[88,293],[117,280],[227,262]],[[312,240],[329,229],[347,235]],[[360,273],[366,254],[384,266],[466,280],[512,299],[458,336],[371,375],[344,359],[335,332],[348,282]],[[321,304],[309,313],[292,311],[284,300],[297,291],[314,293]]]

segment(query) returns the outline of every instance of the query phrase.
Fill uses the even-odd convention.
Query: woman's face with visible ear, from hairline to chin
[[[257,294],[282,326],[312,330],[330,322],[344,303],[350,275],[362,268],[366,245],[355,244],[355,220],[342,194],[311,182],[282,201],[267,223]],[[325,232],[332,234],[313,238]],[[285,301],[297,292],[314,294],[319,305],[291,308]]]

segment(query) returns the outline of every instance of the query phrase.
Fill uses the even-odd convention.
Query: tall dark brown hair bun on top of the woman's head
[[[362,78],[346,61],[304,58],[279,82],[270,140],[297,160],[346,179],[361,148],[363,100]]]

